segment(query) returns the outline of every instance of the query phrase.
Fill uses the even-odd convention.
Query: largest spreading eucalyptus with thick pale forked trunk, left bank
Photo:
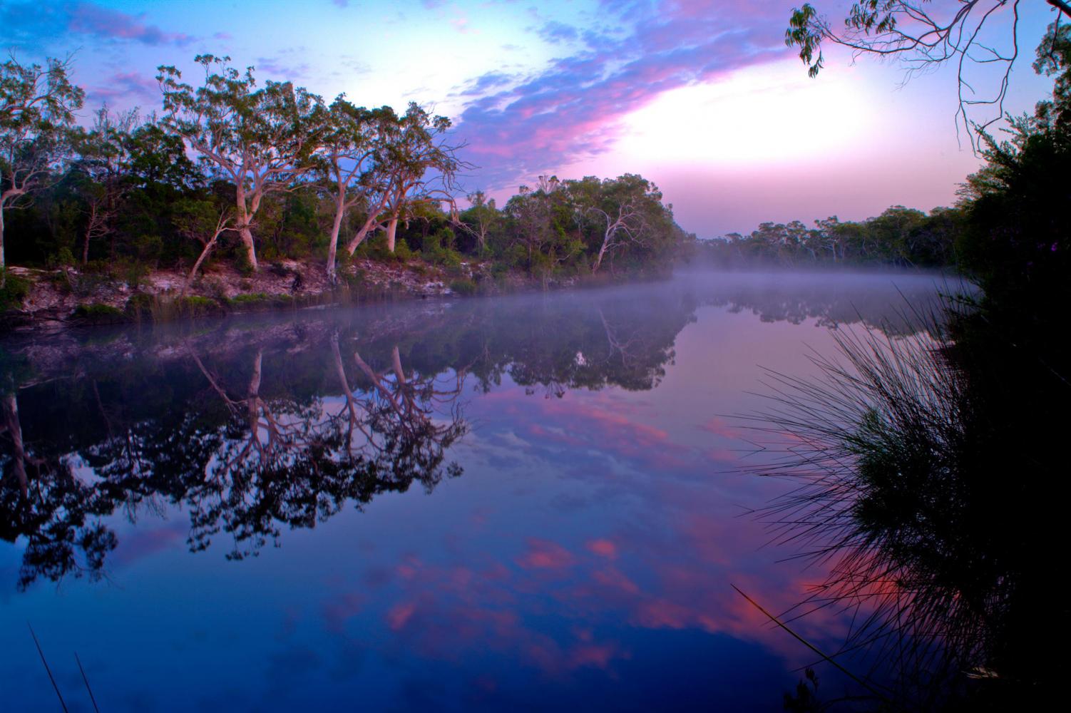
[[[203,84],[183,82],[174,66],[160,66],[165,123],[182,136],[211,172],[235,184],[236,229],[245,259],[257,268],[253,226],[265,196],[293,191],[316,167],[323,133],[322,100],[290,82],[258,89],[254,67],[242,74],[229,57],[198,55]]]

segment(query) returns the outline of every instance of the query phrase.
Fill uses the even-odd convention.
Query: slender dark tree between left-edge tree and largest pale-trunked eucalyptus
[[[114,234],[115,217],[123,196],[132,187],[132,134],[138,123],[136,109],[112,113],[97,110],[92,127],[76,134],[76,168],[82,180],[79,193],[86,200],[88,221],[82,239],[81,263],[89,262],[90,242]],[[115,240],[109,257],[115,258]]]

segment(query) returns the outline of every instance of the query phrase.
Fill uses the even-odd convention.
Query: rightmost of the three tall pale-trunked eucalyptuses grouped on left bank
[[[448,202],[451,216],[456,218],[455,179],[468,165],[456,156],[461,147],[450,143],[444,136],[450,119],[433,117],[416,102],[410,102],[404,116],[384,122],[383,126],[387,131],[376,161],[387,186],[387,249],[393,253],[398,221],[412,203]],[[350,255],[358,244],[351,240],[346,246]]]

